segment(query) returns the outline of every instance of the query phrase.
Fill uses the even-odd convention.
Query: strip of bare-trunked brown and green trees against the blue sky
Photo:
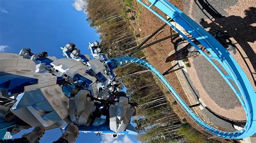
[[[131,5],[122,0],[87,0],[85,10],[90,26],[100,33],[100,46],[110,58],[128,53],[126,49],[138,46],[140,35],[136,34],[130,23]],[[134,10],[132,10],[134,13]],[[134,56],[145,59],[143,52]],[[142,142],[187,141],[193,131],[193,140],[203,141],[203,137],[186,123],[181,123],[179,117],[166,100],[166,92],[162,91],[153,75],[138,65],[127,65],[115,70],[117,78],[125,84],[127,95],[132,102],[138,103],[136,108],[137,138]],[[167,95],[171,96],[171,95]]]

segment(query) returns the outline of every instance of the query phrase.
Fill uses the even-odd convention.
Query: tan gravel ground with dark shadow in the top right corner
[[[199,3],[201,1],[201,4]],[[204,10],[207,16],[209,16],[214,22],[205,16],[205,14],[199,9],[203,8],[203,0],[184,0],[184,12],[190,16],[197,23],[200,23],[200,19],[203,18],[205,23],[201,25],[206,29],[226,31],[237,41],[238,45],[242,48],[242,51],[246,53],[244,57],[252,65],[250,69],[251,75],[255,78],[256,69],[256,1],[255,0],[208,0],[207,2],[222,16],[217,16],[216,13],[209,10]],[[205,0],[203,1],[205,2]],[[199,6],[196,4],[198,3]],[[207,6],[204,6],[205,9]],[[208,12],[211,14],[209,14]],[[215,17],[215,18],[214,18]],[[239,51],[238,51],[239,52]],[[239,63],[239,61],[238,61]],[[250,65],[249,64],[249,65]],[[255,80],[254,80],[255,85]]]

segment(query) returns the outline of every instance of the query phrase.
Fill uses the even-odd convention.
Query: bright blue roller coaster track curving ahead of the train
[[[147,5],[140,0],[137,0],[140,4],[145,6],[154,15],[158,16],[165,23],[170,25],[173,30],[179,33],[182,37],[184,37],[188,42],[191,43],[194,47],[198,49],[198,51],[203,55],[220,73],[221,76],[225,79],[228,85],[230,85],[231,89],[237,95],[239,101],[241,102],[242,107],[245,110],[246,114],[246,125],[239,131],[228,132],[222,131],[218,128],[215,128],[211,125],[208,125],[205,121],[200,119],[181,99],[178,93],[173,89],[172,85],[166,80],[166,78],[150,63],[143,61],[138,58],[124,56],[119,58],[114,58],[107,61],[110,67],[117,68],[122,65],[126,65],[128,63],[137,64],[149,69],[161,83],[169,90],[169,92],[173,95],[173,97],[178,101],[180,106],[186,111],[186,113],[204,130],[208,133],[216,135],[220,138],[225,139],[241,139],[247,138],[256,133],[256,95],[255,91],[246,77],[244,71],[239,67],[238,63],[233,59],[233,57],[226,51],[226,49],[215,40],[210,33],[204,30],[200,25],[194,22],[190,17],[185,15],[182,11],[180,11],[176,6],[165,0],[149,0],[151,3]],[[170,20],[166,20],[159,13],[152,9],[152,6],[155,6],[160,11],[164,12],[167,16],[169,16],[172,20],[177,22],[181,27],[183,27],[188,33],[190,33],[193,37],[188,38],[184,33],[178,30],[177,27],[170,23]],[[211,56],[205,54],[194,42],[193,39],[198,40],[208,52],[211,53]],[[224,74],[223,71],[213,62],[213,60],[218,61],[219,64],[225,69],[227,74]],[[231,83],[231,81],[235,83],[237,89]]]

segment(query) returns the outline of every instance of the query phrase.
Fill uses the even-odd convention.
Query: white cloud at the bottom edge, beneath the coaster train
[[[119,136],[121,137],[121,136]],[[133,141],[125,135],[123,139],[112,138],[110,134],[102,134],[102,141],[100,143],[133,143]]]

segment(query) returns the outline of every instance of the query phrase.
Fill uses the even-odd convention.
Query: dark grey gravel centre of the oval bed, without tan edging
[[[241,106],[233,90],[204,56],[193,58],[193,65],[204,90],[215,103],[227,110]]]

